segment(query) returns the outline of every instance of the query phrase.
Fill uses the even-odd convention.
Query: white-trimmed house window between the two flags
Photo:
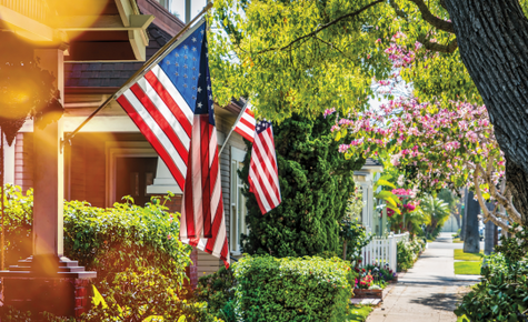
[[[230,240],[231,253],[241,254],[241,234],[248,233],[246,225],[246,197],[242,194],[243,182],[238,175],[238,170],[243,168],[243,157],[246,152],[231,147],[231,220],[230,220]]]

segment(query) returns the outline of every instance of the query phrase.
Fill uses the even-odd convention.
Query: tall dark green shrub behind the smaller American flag
[[[339,223],[355,189],[353,171],[361,169],[365,159],[356,155],[347,160],[339,152],[339,144],[350,142],[350,138],[335,140],[330,132],[335,121],[336,115],[315,120],[293,115],[273,124],[282,202],[262,215],[253,193],[245,192],[249,227],[245,253],[341,255]],[[251,143],[247,144],[251,151]],[[248,152],[239,172],[247,187],[250,158]]]

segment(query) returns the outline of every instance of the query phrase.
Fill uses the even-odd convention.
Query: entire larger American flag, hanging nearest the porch
[[[183,191],[180,240],[229,266],[205,22],[117,101]]]

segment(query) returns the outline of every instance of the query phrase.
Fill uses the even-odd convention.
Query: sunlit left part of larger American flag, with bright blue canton
[[[206,23],[117,99],[183,191]]]

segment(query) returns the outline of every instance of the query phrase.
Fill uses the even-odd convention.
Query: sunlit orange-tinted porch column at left
[[[38,49],[34,57],[40,67],[54,77],[54,85],[64,93],[63,52],[59,49]],[[63,102],[63,97],[61,98]],[[43,273],[57,273],[63,254],[63,154],[62,118],[46,124],[51,113],[33,123],[33,268]],[[48,121],[49,122],[49,121]]]

